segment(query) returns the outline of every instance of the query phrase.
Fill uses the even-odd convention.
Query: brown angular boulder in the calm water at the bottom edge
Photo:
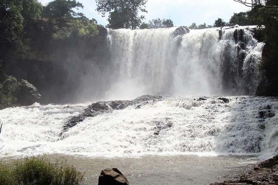
[[[129,183],[117,168],[108,168],[101,171],[98,185],[129,185]]]

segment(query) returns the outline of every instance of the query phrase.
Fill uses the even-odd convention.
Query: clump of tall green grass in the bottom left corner
[[[83,177],[73,166],[40,156],[16,160],[12,167],[0,164],[1,185],[80,185]]]

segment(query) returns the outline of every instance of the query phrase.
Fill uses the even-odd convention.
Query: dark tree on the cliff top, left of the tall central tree
[[[54,0],[43,8],[43,16],[46,18],[72,18],[78,16],[73,9],[84,6],[75,0]]]

